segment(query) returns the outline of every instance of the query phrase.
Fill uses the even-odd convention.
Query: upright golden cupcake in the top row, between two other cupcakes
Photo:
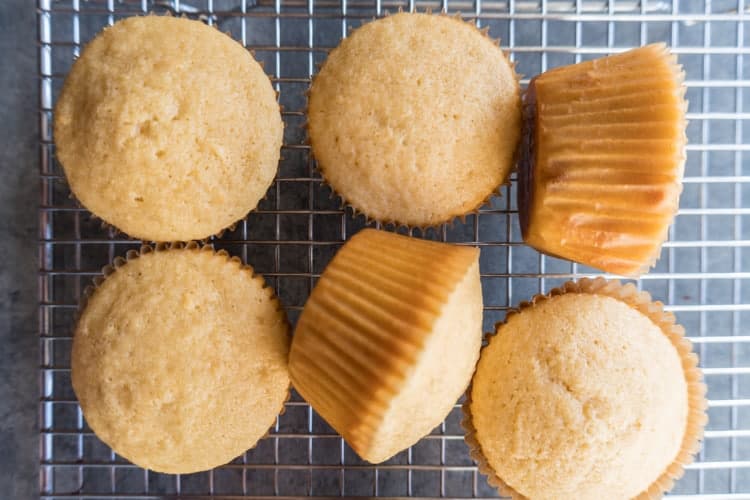
[[[330,53],[308,115],[318,168],[347,204],[424,227],[477,210],[506,181],[521,100],[513,65],[475,26],[400,13]]]

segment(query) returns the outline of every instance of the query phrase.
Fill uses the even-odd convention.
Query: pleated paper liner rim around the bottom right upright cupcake
[[[661,302],[653,301],[648,292],[638,291],[632,283],[622,285],[617,280],[606,280],[604,278],[583,278],[579,281],[568,281],[546,295],[535,295],[528,302],[521,302],[517,308],[510,310],[505,320],[495,325],[495,331],[486,334],[486,336],[490,337],[496,333],[500,326],[506,323],[512,315],[521,314],[524,309],[533,308],[539,302],[566,293],[602,295],[624,302],[653,321],[672,343],[682,360],[682,369],[688,390],[688,414],[680,450],[661,475],[645,491],[635,497],[638,500],[661,498],[663,493],[669,491],[674,482],[682,477],[684,467],[692,463],[694,455],[700,449],[703,430],[708,421],[706,415],[706,386],[703,382],[703,374],[698,367],[698,356],[693,353],[692,344],[685,338],[684,328],[675,323],[675,317],[672,313],[664,311]],[[472,423],[471,392],[471,387],[469,387],[462,406],[463,419],[461,422],[461,426],[466,432],[465,440],[471,457],[476,461],[479,471],[487,476],[488,483],[501,494],[514,499],[525,499],[525,496],[515,491],[495,473],[492,465],[485,458],[482,445],[477,439],[476,428]]]

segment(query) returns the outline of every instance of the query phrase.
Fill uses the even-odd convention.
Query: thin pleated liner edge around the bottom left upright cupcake
[[[239,257],[230,256],[228,252],[225,250],[219,250],[216,251],[213,248],[213,245],[204,245],[199,242],[191,241],[188,243],[184,242],[173,242],[173,243],[158,243],[156,245],[142,245],[139,250],[129,250],[124,257],[116,257],[111,264],[108,264],[102,268],[102,273],[100,276],[95,277],[92,280],[92,284],[87,286],[82,294],[79,301],[78,310],[76,311],[76,317],[74,319],[74,328],[73,331],[77,331],[78,329],[78,322],[80,321],[80,317],[84,309],[86,308],[86,305],[91,297],[93,297],[96,293],[98,288],[114,273],[116,273],[120,268],[123,266],[128,265],[128,262],[131,262],[135,259],[144,258],[144,256],[148,256],[149,254],[153,252],[205,252],[210,253],[214,255],[216,258],[224,259],[228,264],[237,266],[237,272],[242,273],[249,273],[252,277],[252,279],[256,282],[260,282],[262,284],[262,288],[266,291],[269,298],[271,299],[272,303],[275,305],[275,310],[277,314],[279,315],[279,318],[282,320],[283,324],[285,325],[285,329],[287,331],[287,336],[291,337],[291,328],[289,324],[289,320],[287,319],[286,312],[284,310],[283,305],[279,301],[278,297],[275,295],[275,292],[273,288],[271,288],[265,281],[262,275],[255,273],[253,268],[249,265],[243,264],[241,259]],[[283,401],[281,403],[281,407],[279,408],[278,415],[283,415],[286,411],[286,403],[291,398],[291,384],[286,389],[286,394],[283,398]],[[258,440],[249,448],[253,449],[255,446],[257,446],[258,442],[260,442],[261,439],[268,437],[271,430],[273,429],[274,422],[271,422],[269,424],[268,430],[258,438]],[[221,464],[223,465],[223,464]]]

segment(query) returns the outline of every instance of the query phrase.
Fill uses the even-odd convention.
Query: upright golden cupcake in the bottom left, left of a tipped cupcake
[[[83,415],[117,454],[192,473],[251,448],[289,393],[289,331],[263,278],[210,247],[117,260],[73,338]]]

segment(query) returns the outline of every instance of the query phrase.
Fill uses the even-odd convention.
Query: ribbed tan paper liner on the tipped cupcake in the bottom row
[[[292,383],[363,458],[477,257],[475,248],[365,229],[313,289],[292,342]]]

